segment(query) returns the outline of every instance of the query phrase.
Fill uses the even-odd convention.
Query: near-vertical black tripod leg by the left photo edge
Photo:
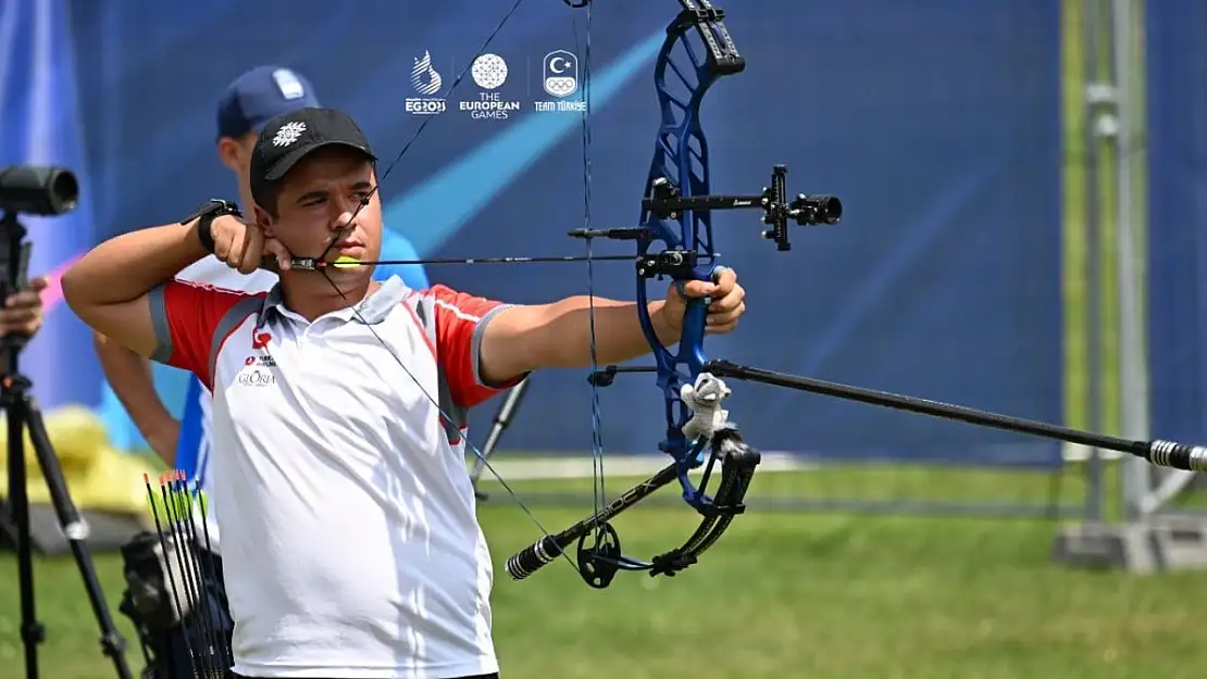
[[[10,385],[5,385],[5,390]],[[37,621],[34,599],[34,551],[29,533],[29,496],[25,492],[24,417],[18,408],[8,409],[8,513],[12,515],[13,545],[17,548],[17,581],[21,589],[21,640],[25,649],[25,677],[37,677],[37,645],[46,628]]]

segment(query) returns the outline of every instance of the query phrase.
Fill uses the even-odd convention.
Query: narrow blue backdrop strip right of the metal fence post
[[[1149,2],[1149,295],[1153,432],[1207,434],[1207,4]]]

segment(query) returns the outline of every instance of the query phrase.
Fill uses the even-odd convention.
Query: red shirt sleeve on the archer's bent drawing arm
[[[210,391],[210,356],[223,317],[250,295],[206,283],[171,280],[151,295],[151,316],[156,328],[158,346],[154,359],[188,370],[197,375]],[[229,329],[233,330],[235,326]]]

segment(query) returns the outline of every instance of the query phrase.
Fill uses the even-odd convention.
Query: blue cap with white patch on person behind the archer
[[[298,109],[317,109],[310,81],[284,66],[257,66],[234,80],[218,100],[218,139],[241,137]]]

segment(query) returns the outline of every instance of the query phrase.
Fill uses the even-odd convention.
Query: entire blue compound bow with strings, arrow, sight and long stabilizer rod
[[[515,0],[503,19],[495,27],[479,47],[470,64],[482,55],[491,40],[515,13],[524,0]],[[652,575],[674,575],[696,562],[700,554],[711,548],[725,532],[735,516],[745,509],[744,499],[751,479],[758,467],[760,455],[745,443],[737,427],[729,422],[722,408],[729,394],[722,377],[760,382],[765,385],[818,393],[828,397],[855,400],[870,405],[906,410],[911,412],[958,420],[978,426],[995,427],[1057,440],[1072,441],[1118,450],[1143,457],[1155,464],[1180,469],[1207,470],[1207,449],[1171,441],[1133,441],[1103,437],[1066,427],[1020,420],[1005,415],[972,410],[963,406],[935,403],[908,396],[850,387],[822,380],[814,380],[758,368],[736,365],[727,361],[709,361],[704,355],[704,336],[707,300],[694,299],[687,305],[683,329],[677,351],[663,345],[653,328],[647,306],[647,285],[651,279],[670,279],[682,287],[687,281],[707,281],[717,274],[717,252],[712,240],[711,213],[713,210],[753,209],[762,212],[766,229],[763,238],[776,244],[780,251],[791,250],[788,229],[795,224],[833,224],[842,212],[841,203],[830,195],[797,195],[787,193],[787,168],[776,165],[771,170],[770,186],[758,194],[712,195],[709,181],[709,147],[700,127],[700,105],[709,88],[719,78],[741,72],[746,64],[737,53],[729,31],[723,24],[724,12],[709,0],[678,0],[682,11],[666,29],[666,40],[658,54],[654,83],[661,106],[663,123],[658,131],[654,154],[646,182],[640,226],[628,228],[594,229],[590,227],[590,16],[594,0],[562,0],[567,6],[587,11],[587,54],[584,59],[583,96],[587,104],[583,115],[584,148],[584,228],[570,232],[576,239],[587,241],[585,257],[495,257],[474,259],[425,259],[416,262],[361,262],[360,264],[467,264],[467,263],[536,263],[536,262],[587,262],[588,292],[591,293],[591,263],[601,261],[632,261],[636,263],[637,314],[642,330],[653,350],[652,367],[617,367],[600,369],[594,364],[595,328],[591,309],[593,371],[593,455],[599,461],[602,443],[599,434],[599,390],[612,384],[622,373],[652,373],[663,392],[666,410],[666,437],[659,449],[671,462],[660,472],[622,493],[601,507],[597,497],[595,511],[560,533],[549,533],[529,548],[507,560],[507,572],[517,580],[524,579],[559,557],[567,558],[566,550],[577,543],[577,570],[593,587],[606,587],[620,570],[645,570]],[[453,81],[444,93],[448,98],[463,80],[470,66]],[[682,92],[682,94],[680,94]],[[428,117],[403,145],[393,162],[381,172],[378,186],[390,170],[422,133]],[[375,191],[375,189],[374,189]],[[362,204],[367,205],[368,200]],[[357,210],[358,211],[358,210]],[[352,215],[355,219],[355,213]],[[350,222],[351,223],[351,222]],[[336,242],[342,236],[336,236]],[[636,256],[591,254],[596,239],[629,240],[636,244]],[[328,252],[330,252],[328,247]],[[326,261],[328,252],[315,258],[295,259],[295,269],[325,270],[338,265]],[[330,280],[330,279],[328,279]],[[338,291],[338,286],[336,287]],[[354,308],[355,310],[355,308]],[[362,320],[363,321],[363,320]],[[368,326],[372,330],[372,326]],[[398,364],[408,371],[401,359]],[[419,385],[419,381],[415,381]],[[420,387],[422,388],[422,387]],[[438,402],[427,394],[427,398]],[[445,420],[451,421],[448,414]],[[467,441],[479,463],[494,473],[486,456]],[[692,482],[689,473],[702,467],[699,485]],[[713,473],[719,467],[721,480],[715,494],[706,493]],[[602,482],[602,467],[596,468],[596,488]],[[495,474],[503,482],[506,481]],[[704,519],[700,527],[683,543],[652,560],[639,561],[624,556],[620,542],[610,521],[618,514],[640,503],[657,490],[678,482],[684,502]],[[511,488],[507,487],[508,492]],[[527,508],[511,492],[521,509]],[[531,513],[529,513],[531,517]],[[540,528],[540,522],[533,517]]]

